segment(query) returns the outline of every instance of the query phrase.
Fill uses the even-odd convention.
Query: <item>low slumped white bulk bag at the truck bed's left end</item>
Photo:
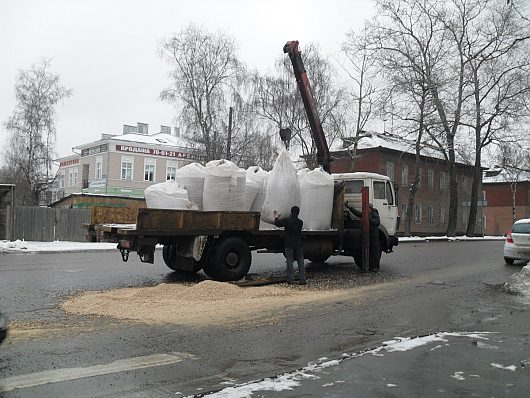
[[[153,184],[144,190],[145,203],[153,209],[189,209],[188,192],[177,182],[169,180]]]

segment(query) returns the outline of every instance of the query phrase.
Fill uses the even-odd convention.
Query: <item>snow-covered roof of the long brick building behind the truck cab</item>
[[[344,138],[342,147],[333,145],[332,151],[349,151],[353,149],[354,138]],[[364,132],[357,146],[358,149],[384,148],[401,153],[416,154],[416,142],[388,132]],[[433,145],[422,143],[420,154],[425,157],[445,160],[443,153]],[[458,153],[456,154],[457,163],[469,165]]]

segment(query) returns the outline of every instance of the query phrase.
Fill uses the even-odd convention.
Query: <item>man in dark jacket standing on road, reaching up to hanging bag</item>
[[[274,211],[274,225],[285,228],[284,250],[287,259],[287,283],[294,283],[293,261],[298,263],[298,273],[300,284],[305,285],[304,249],[302,246],[302,226],[303,221],[298,218],[300,209],[298,206],[291,208],[291,215],[287,218],[279,219],[281,214]]]

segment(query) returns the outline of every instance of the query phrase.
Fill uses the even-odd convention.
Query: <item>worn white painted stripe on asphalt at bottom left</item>
[[[140,357],[119,359],[117,361],[88,367],[64,368],[46,370],[44,372],[28,373],[0,379],[0,393],[20,388],[40,386],[49,383],[59,383],[67,380],[100,376],[110,373],[126,372],[129,370],[150,368],[153,366],[170,365],[186,359],[196,359],[186,352],[172,352],[170,354],[153,354]]]

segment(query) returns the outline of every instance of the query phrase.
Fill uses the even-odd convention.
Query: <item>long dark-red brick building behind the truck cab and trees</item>
[[[390,177],[398,186],[400,216],[404,221],[410,184],[414,179],[414,142],[389,133],[366,133],[359,140],[355,170],[349,148],[335,149],[331,156],[331,171],[345,173],[368,171]],[[416,193],[411,234],[417,236],[445,235],[449,217],[449,173],[442,154],[433,147],[421,150],[422,177]],[[457,163],[458,218],[456,234],[466,231],[471,198],[473,168],[463,160]],[[482,212],[477,215],[476,234],[482,234]],[[404,231],[403,224],[400,227]]]

